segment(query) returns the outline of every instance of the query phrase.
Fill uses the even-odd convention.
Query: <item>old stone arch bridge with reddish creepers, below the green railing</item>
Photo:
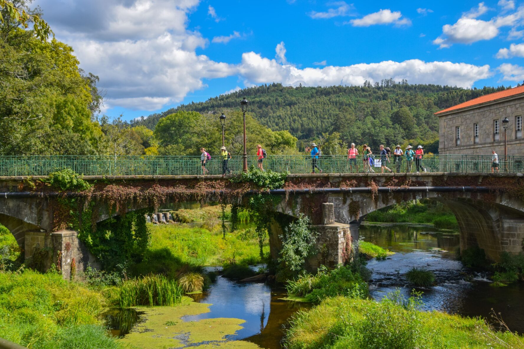
[[[84,177],[88,181],[98,177]],[[25,190],[24,177],[0,177],[0,223],[15,236],[31,255],[36,243],[61,251],[64,273],[74,257],[82,268],[96,261],[77,238],[77,232],[54,231],[56,214],[50,197],[74,196],[75,193],[38,193]],[[176,188],[193,181],[217,188],[207,200],[216,200],[221,185],[228,182],[221,176],[114,176],[104,177],[121,185]],[[139,183],[139,184],[137,184]],[[250,193],[244,193],[249,195]],[[497,261],[504,251],[519,253],[524,240],[524,177],[520,174],[302,174],[290,175],[283,189],[271,190],[281,197],[269,228],[271,255],[278,256],[279,235],[300,213],[308,215],[319,231],[318,243],[328,253],[311,261],[331,265],[343,262],[344,249],[358,239],[358,227],[365,216],[398,202],[429,198],[442,201],[454,212],[460,228],[461,250],[471,246],[484,249]],[[191,195],[185,196],[190,199]],[[178,198],[180,200],[180,198]],[[146,207],[132,204],[127,210]],[[100,207],[97,221],[110,217],[107,207]],[[117,215],[118,213],[113,213]],[[324,249],[325,250],[325,249]],[[55,261],[56,262],[56,261]],[[64,275],[68,276],[68,275]]]

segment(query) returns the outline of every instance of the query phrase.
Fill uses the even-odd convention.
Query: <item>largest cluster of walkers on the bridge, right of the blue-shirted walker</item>
[[[314,144],[314,143],[313,143]],[[395,150],[391,154],[391,149],[389,147],[384,148],[383,144],[379,145],[379,159],[375,160],[375,157],[373,155],[373,151],[371,148],[367,146],[367,144],[364,144],[362,147],[362,160],[364,162],[364,172],[375,172],[373,170],[373,167],[380,167],[382,170],[382,173],[384,173],[384,170],[388,172],[393,172],[391,168],[388,167],[388,163],[391,163],[391,157],[393,159],[393,165],[396,167],[395,172],[400,172],[402,160],[403,157],[406,157],[406,172],[412,172],[413,168],[413,161],[415,163],[417,172],[426,172],[425,167],[422,165],[422,156],[424,156],[424,149],[422,145],[419,145],[417,147],[416,151],[413,151],[413,147],[411,145],[408,145],[406,147],[406,151],[402,151],[400,145],[397,145],[395,147]],[[358,149],[355,148],[355,143],[351,143],[351,148],[347,150],[347,161],[350,165],[350,171],[353,172],[353,168],[355,168],[355,172],[358,172],[358,165],[357,165],[357,156],[358,156]],[[380,165],[376,164],[376,162],[380,162]],[[314,168],[313,168],[314,173]]]

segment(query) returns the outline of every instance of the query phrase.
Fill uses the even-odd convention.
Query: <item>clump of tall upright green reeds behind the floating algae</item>
[[[135,306],[174,306],[182,300],[183,289],[175,280],[162,275],[147,275],[126,280],[120,287],[121,308]]]

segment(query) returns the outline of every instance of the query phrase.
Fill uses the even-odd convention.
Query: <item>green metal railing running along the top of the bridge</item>
[[[376,173],[380,157],[371,166]],[[257,156],[248,156],[248,167],[256,166]],[[356,166],[346,155],[323,155],[317,161],[323,173],[364,172],[364,159],[357,156]],[[269,155],[264,159],[264,169],[291,174],[311,173],[309,155]],[[416,172],[416,161],[408,162],[405,156],[397,163],[391,157],[388,162],[394,172]],[[85,176],[117,175],[200,175],[200,156],[0,156],[0,176],[45,176],[50,172],[68,167]],[[206,166],[209,174],[222,174],[222,161],[213,156]],[[242,156],[233,156],[228,162],[231,173],[242,172]],[[424,155],[420,172],[445,173],[491,173],[492,156],[487,155]],[[318,172],[318,170],[316,170]],[[495,171],[497,172],[497,171]],[[524,172],[524,156],[499,156],[500,173]]]

